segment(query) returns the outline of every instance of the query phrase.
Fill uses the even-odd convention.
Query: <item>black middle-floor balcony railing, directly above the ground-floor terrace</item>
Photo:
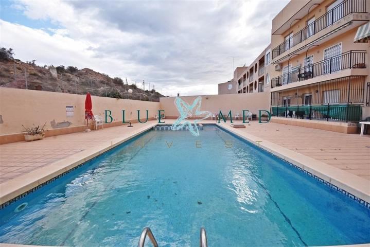
[[[338,72],[342,69],[365,68],[365,54],[365,50],[350,50],[344,52],[341,55],[274,77],[271,79],[271,87],[273,88],[297,81],[304,81],[317,76]]]

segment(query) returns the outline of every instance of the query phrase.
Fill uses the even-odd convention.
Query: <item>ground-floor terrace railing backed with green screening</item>
[[[362,106],[359,104],[277,105],[271,107],[272,116],[327,121],[360,121]]]

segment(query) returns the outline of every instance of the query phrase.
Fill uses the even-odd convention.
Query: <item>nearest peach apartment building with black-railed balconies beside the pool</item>
[[[273,116],[332,122],[370,116],[370,46],[359,42],[369,9],[368,0],[292,0],[275,16]]]

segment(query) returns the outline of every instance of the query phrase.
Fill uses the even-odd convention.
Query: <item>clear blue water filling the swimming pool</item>
[[[369,209],[216,126],[148,131],[0,214],[5,243],[137,246],[145,226],[160,246],[201,226],[209,246],[370,242]]]

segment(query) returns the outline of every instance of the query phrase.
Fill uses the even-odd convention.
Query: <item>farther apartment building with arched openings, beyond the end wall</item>
[[[261,93],[270,88],[270,75],[266,72],[271,65],[270,45],[249,65],[234,71],[235,93]]]

